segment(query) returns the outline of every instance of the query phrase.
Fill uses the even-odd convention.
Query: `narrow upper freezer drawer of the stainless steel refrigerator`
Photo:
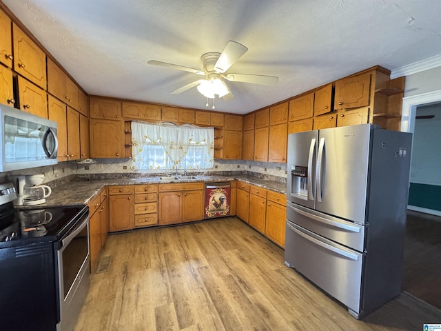
[[[287,202],[287,219],[302,228],[359,252],[365,250],[365,226]]]

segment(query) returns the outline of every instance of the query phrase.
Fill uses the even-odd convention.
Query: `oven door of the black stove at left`
[[[90,284],[89,214],[59,241],[57,330],[72,330]]]

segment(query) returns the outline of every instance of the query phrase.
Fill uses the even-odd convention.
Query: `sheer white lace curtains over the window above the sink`
[[[214,128],[132,121],[132,170],[213,168]]]

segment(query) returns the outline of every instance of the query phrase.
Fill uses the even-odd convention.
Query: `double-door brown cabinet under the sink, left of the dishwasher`
[[[158,225],[203,219],[204,183],[159,184]]]

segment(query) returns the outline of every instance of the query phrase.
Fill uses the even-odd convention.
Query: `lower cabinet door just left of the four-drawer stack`
[[[109,196],[110,232],[132,230],[134,228],[133,194]]]

